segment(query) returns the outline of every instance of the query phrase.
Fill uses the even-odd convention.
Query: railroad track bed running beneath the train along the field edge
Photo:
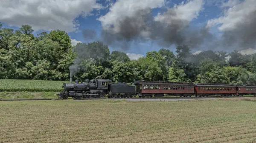
[[[256,96],[208,96],[208,97],[152,97],[152,98],[81,98],[81,99],[52,99],[52,98],[42,98],[42,99],[0,99],[0,101],[34,101],[34,100],[143,100],[143,99],[204,99],[204,98],[241,98],[241,97],[252,97]]]

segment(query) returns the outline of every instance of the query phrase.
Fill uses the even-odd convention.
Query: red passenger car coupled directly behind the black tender
[[[176,95],[176,96],[192,96],[194,95],[194,84],[184,82],[170,81],[135,81],[136,93],[139,97],[152,97]]]

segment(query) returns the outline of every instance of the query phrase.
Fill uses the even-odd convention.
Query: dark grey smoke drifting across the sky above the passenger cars
[[[188,20],[172,18],[177,17],[173,9],[169,9],[163,15],[171,21],[170,23],[156,21],[150,8],[138,10],[135,15],[136,17],[125,17],[116,21],[118,23],[116,25],[119,26],[118,32],[113,26],[103,29],[102,42],[112,46],[117,45],[122,50],[127,50],[129,43],[134,41],[156,42],[167,48],[171,45],[189,45],[195,48],[214,37],[209,32],[209,28],[195,30],[189,27]]]

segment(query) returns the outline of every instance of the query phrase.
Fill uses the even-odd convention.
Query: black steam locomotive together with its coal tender
[[[98,78],[98,77],[97,77]],[[63,91],[58,93],[59,98],[67,99],[72,98],[132,98],[135,95],[135,86],[126,83],[110,83],[110,79],[86,79],[84,82],[79,83],[75,80],[72,83],[63,84]]]

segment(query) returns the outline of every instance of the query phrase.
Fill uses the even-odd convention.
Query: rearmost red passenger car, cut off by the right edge
[[[254,95],[256,96],[256,85],[252,86],[236,86],[236,95]]]

